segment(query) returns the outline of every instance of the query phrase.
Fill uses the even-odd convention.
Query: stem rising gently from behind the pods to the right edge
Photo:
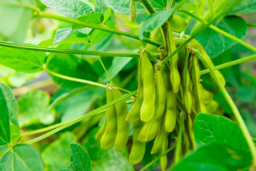
[[[242,59],[237,59],[237,60],[233,60],[231,62],[223,63],[221,65],[214,66],[212,69],[213,70],[219,70],[219,69],[223,69],[223,68],[226,68],[226,67],[237,65],[237,64],[240,64],[240,63],[243,63],[243,62],[247,62],[247,61],[250,61],[250,60],[253,60],[253,59],[256,59],[256,55],[247,56],[247,57],[243,57]],[[209,73],[209,72],[210,72],[209,69],[204,69],[204,70],[200,71],[200,74],[203,75],[203,74],[206,74],[206,73]]]

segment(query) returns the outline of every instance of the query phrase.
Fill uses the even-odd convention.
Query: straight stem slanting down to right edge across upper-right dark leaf
[[[183,13],[187,14],[188,16],[193,17],[194,19],[198,20],[199,22],[203,23],[203,24],[208,24],[205,20],[200,19],[199,17],[195,16],[194,14],[186,11],[186,10],[181,10]],[[237,43],[240,43],[241,45],[247,47],[248,49],[253,50],[254,52],[256,52],[256,47],[253,47],[252,45],[249,45],[248,43],[244,42],[243,40],[238,39],[235,36],[232,36],[231,34],[224,32],[223,30],[219,29],[216,26],[210,25],[209,26],[210,29],[222,34],[223,36],[226,36],[234,41],[236,41]]]

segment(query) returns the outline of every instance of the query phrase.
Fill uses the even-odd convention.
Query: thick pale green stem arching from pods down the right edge
[[[214,70],[210,67],[210,65],[206,62],[206,60],[204,60],[204,58],[198,52],[196,52],[196,55],[200,58],[200,60],[204,63],[204,65],[206,65],[207,68],[210,70],[210,73],[213,76],[217,85],[219,86],[221,93],[223,94],[224,98],[226,99],[227,103],[229,104],[230,108],[232,109],[233,114],[238,122],[238,125],[240,126],[240,129],[243,132],[244,138],[246,139],[246,142],[249,146],[250,152],[252,154],[253,165],[256,166],[256,147],[253,143],[252,137],[250,136],[248,129],[246,128],[243,118],[239,113],[239,110],[237,109],[234,101],[230,97],[230,95],[227,92],[227,90],[225,89],[225,87],[221,84],[220,79],[216,75]]]

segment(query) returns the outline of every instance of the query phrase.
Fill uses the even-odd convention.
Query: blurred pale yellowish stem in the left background
[[[46,80],[42,80],[42,81],[39,81],[39,82],[36,82],[36,83],[32,83],[30,85],[23,86],[23,87],[20,87],[20,88],[14,88],[14,89],[12,89],[12,92],[13,92],[14,96],[20,96],[20,95],[23,95],[23,94],[25,94],[29,91],[33,91],[33,90],[36,90],[36,89],[41,89],[41,88],[44,88],[44,87],[52,85],[52,84],[54,84],[52,79],[46,79]]]

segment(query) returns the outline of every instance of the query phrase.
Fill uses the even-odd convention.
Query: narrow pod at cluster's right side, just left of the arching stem
[[[192,65],[191,65],[191,80],[193,82],[193,95],[196,99],[197,103],[197,111],[198,112],[204,112],[207,113],[206,107],[203,104],[203,99],[202,99],[202,89],[200,86],[200,69],[198,62],[196,60],[196,57],[191,57],[192,58]]]

